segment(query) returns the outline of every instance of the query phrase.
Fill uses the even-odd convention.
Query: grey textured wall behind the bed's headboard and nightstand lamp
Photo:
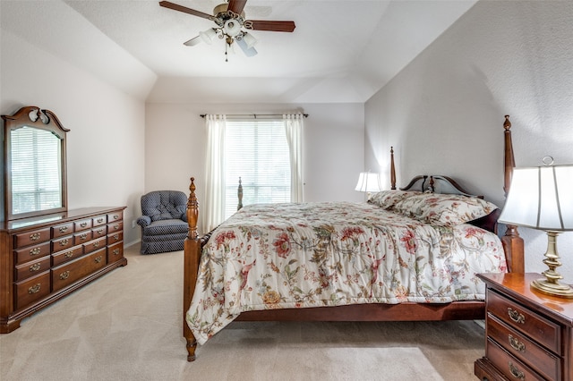
[[[502,206],[504,114],[517,166],[573,164],[572,20],[570,1],[475,4],[366,103],[366,164],[394,145],[399,184],[449,174]],[[543,271],[545,234],[520,233],[526,271]],[[573,283],[573,233],[558,246]]]

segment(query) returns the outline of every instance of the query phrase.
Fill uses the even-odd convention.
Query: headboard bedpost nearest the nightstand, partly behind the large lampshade
[[[509,115],[505,115],[505,122],[503,122],[504,129],[504,157],[503,157],[503,174],[504,183],[503,190],[505,197],[508,198],[509,187],[511,185],[511,176],[513,175],[513,168],[516,163],[513,157],[513,143],[511,141],[511,122],[509,122]],[[517,232],[517,226],[508,224],[505,235],[501,237],[505,257],[508,260],[508,269],[512,273],[525,273],[525,253],[523,238]]]

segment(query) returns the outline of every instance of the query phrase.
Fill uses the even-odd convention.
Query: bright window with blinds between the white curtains
[[[290,202],[291,166],[285,123],[227,120],[225,134],[225,218],[236,211],[239,177],[244,205]]]

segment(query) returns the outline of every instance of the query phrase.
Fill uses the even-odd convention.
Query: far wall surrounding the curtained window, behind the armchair
[[[176,89],[175,89],[176,90]],[[363,104],[214,105],[150,103],[146,107],[145,190],[183,190],[194,176],[204,199],[207,135],[200,114],[282,114],[302,111],[306,201],[361,201],[354,190],[363,171]],[[201,220],[201,211],[200,211]]]

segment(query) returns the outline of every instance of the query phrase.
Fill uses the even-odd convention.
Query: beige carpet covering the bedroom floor
[[[183,252],[139,255],[0,335],[9,380],[475,380],[466,322],[236,322],[188,363]]]

